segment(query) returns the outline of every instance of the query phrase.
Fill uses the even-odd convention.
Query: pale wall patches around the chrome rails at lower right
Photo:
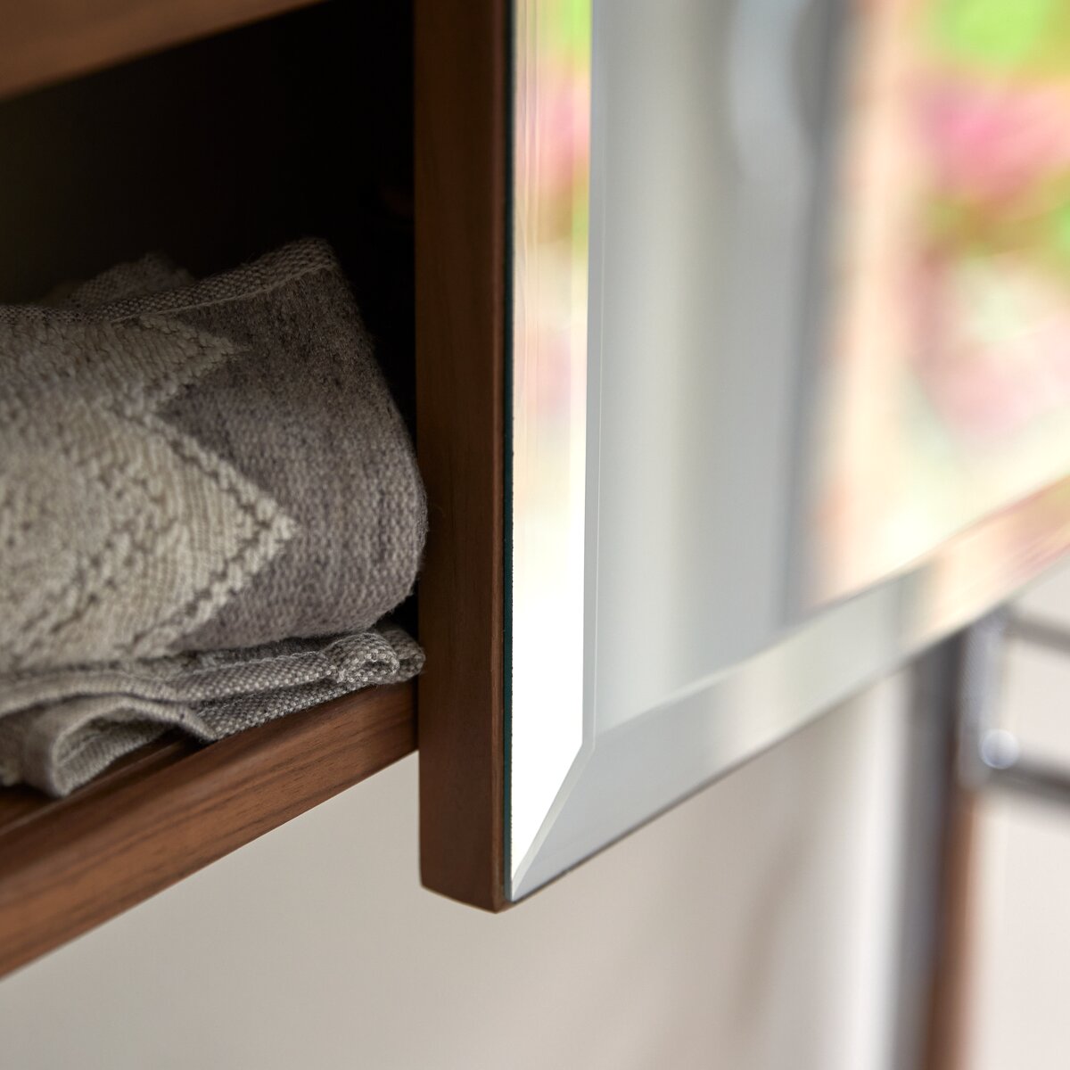
[[[1015,607],[1070,637],[1070,566]],[[997,719],[1033,758],[1070,767],[1070,656],[1011,642]],[[978,807],[972,872],[967,1070],[1070,1066],[1070,814],[988,792]]]

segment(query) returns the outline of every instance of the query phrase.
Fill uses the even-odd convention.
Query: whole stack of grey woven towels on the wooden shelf
[[[321,242],[0,308],[0,782],[64,794],[423,655],[411,444]],[[221,653],[220,653],[221,652]]]

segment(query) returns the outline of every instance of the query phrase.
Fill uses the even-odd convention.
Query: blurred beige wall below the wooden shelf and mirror
[[[498,917],[409,759],[0,982],[0,1066],[882,1070],[900,683]]]

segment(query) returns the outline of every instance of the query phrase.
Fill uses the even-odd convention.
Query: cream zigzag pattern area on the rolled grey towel
[[[183,323],[0,323],[0,672],[160,654],[294,532],[158,412],[235,347]]]

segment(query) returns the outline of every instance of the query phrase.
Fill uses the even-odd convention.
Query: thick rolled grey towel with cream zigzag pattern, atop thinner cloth
[[[369,627],[424,492],[330,250],[0,309],[0,672]]]

